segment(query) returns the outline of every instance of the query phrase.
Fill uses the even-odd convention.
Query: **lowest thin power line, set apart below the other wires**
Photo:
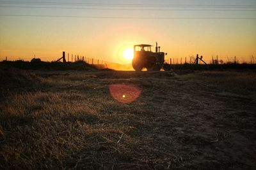
[[[104,19],[203,19],[203,20],[255,20],[256,18],[236,17],[92,17],[92,16],[68,16],[68,15],[8,15],[0,17],[56,17],[56,18],[104,18]]]

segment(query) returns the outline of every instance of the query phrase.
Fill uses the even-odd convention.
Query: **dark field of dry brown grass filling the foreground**
[[[256,169],[256,74],[0,69],[0,169]]]

